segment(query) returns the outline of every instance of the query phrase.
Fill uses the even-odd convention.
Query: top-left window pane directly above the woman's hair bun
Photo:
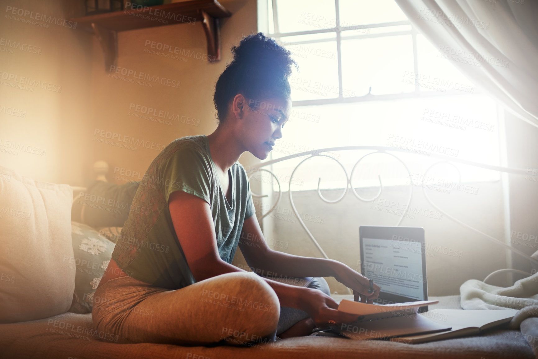
[[[330,29],[336,26],[335,2],[331,0],[277,1],[281,33]]]

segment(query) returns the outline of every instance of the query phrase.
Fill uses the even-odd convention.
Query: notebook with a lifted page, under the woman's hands
[[[417,314],[419,307],[436,303],[438,303],[437,300],[422,300],[372,305],[342,299],[338,311],[363,315],[353,323],[341,323],[330,328],[333,333],[356,340],[383,339],[450,330],[449,325],[434,322]]]

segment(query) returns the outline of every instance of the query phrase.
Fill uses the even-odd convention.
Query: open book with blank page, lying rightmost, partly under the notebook
[[[483,330],[498,327],[511,321],[516,312],[514,310],[434,309],[418,315],[436,323],[450,326],[452,327],[451,330],[443,333],[405,336],[399,338],[399,341],[415,344],[458,336],[476,335],[483,332]]]

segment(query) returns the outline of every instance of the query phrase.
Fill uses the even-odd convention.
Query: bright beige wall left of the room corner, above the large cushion
[[[40,13],[63,24],[59,19],[83,12],[79,3],[18,0],[0,5],[0,166],[37,180],[79,184],[91,161],[89,146],[81,140],[91,122],[91,36],[69,24],[30,18]],[[15,8],[22,16],[12,14]],[[13,108],[24,117],[6,113]]]

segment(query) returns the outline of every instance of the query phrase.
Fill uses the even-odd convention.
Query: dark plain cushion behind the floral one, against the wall
[[[123,227],[132,208],[134,194],[140,182],[116,185],[105,181],[92,181],[86,192],[73,201],[73,221],[91,227]]]

